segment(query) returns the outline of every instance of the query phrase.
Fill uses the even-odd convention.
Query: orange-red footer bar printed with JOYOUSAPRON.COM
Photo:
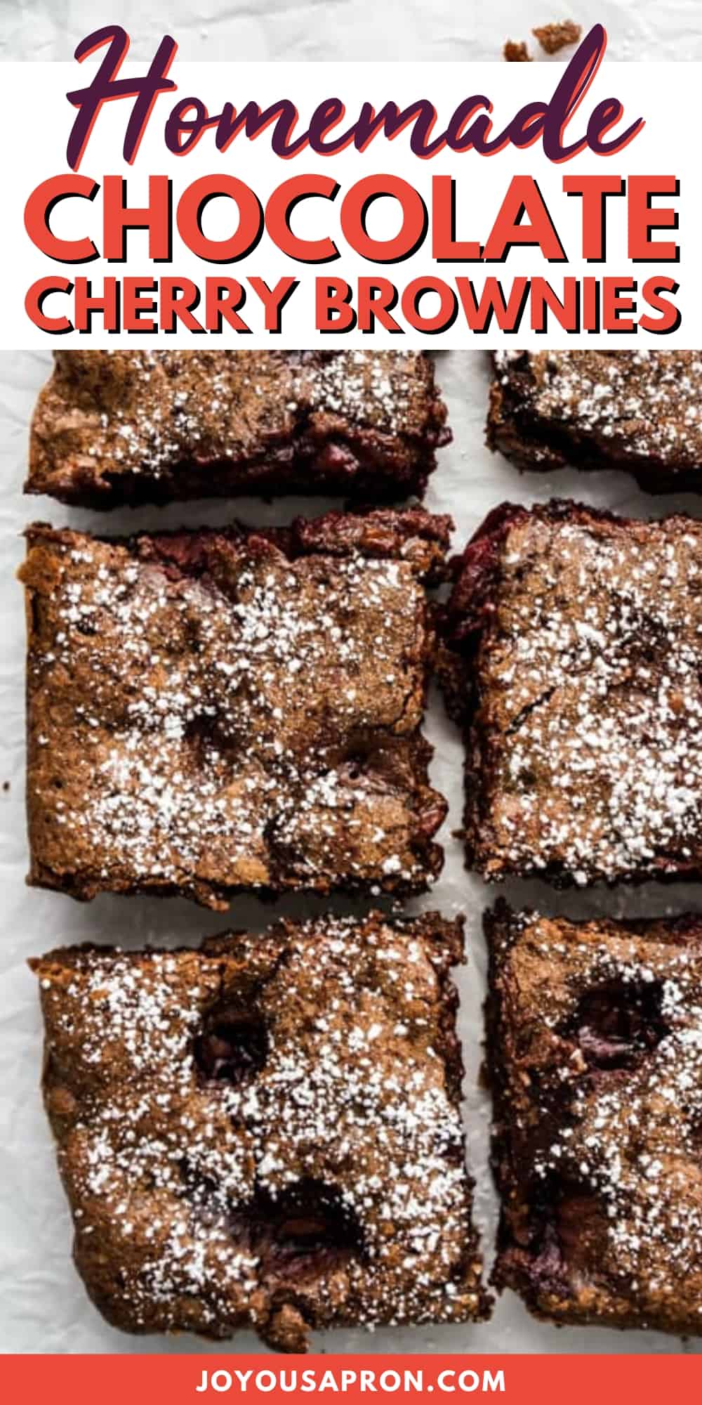
[[[519,1405],[696,1401],[701,1356],[4,1356],[7,1405],[197,1405],[435,1395]]]

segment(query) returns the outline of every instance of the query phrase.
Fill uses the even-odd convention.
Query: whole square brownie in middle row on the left
[[[451,521],[104,540],[28,530],[34,885],[424,889],[445,802],[421,735]]]

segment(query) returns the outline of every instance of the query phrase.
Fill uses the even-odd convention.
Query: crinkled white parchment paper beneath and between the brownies
[[[528,38],[532,24],[562,18],[557,7],[522,7],[518,0],[490,6],[449,0],[205,0],[194,15],[184,0],[152,6],[122,0],[114,7],[132,34],[135,56],[153,52],[163,32],[176,34],[187,58],[247,59],[362,59],[393,56],[427,60],[497,59],[505,38]],[[595,20],[609,32],[615,58],[702,58],[702,28],[695,0],[587,0],[573,11],[587,28]],[[0,59],[67,59],[84,34],[98,22],[91,0],[0,0]],[[535,41],[532,48],[536,49]],[[702,329],[701,329],[702,336]],[[247,521],[284,521],[295,511],[323,510],[329,503],[286,499],[275,507],[253,500],[236,504],[188,504],[136,513],[69,511],[48,500],[22,499],[27,429],[37,391],[48,374],[49,355],[0,355],[0,882],[3,933],[0,940],[0,1350],[1,1352],[222,1352],[191,1336],[129,1338],[110,1328],[90,1304],[70,1259],[70,1221],[55,1168],[53,1146],[38,1092],[41,1021],[35,979],[27,957],[51,946],[118,941],[138,946],[197,944],[226,926],[264,927],[279,913],[320,912],[319,901],[291,899],[265,908],[253,899],[232,905],[229,919],[178,899],[100,898],[80,906],[56,894],[24,887],[27,868],[24,830],[24,613],[14,572],[22,556],[20,532],[29,520],[119,531],[195,521],[219,524],[232,516]],[[591,476],[564,472],[553,478],[519,478],[483,447],[487,400],[487,362],[480,353],[442,353],[438,378],[449,405],[453,444],[441,452],[427,506],[449,511],[459,548],[486,511],[503,499],[546,500],[552,493],[639,516],[661,516],[682,509],[702,514],[702,497],[649,499],[622,473]],[[489,1107],[477,1087],[484,991],[482,912],[496,896],[463,870],[452,829],[462,811],[462,747],[446,722],[441,701],[431,698],[427,731],[435,746],[432,781],[451,809],[439,839],[446,864],[434,892],[410,906],[438,906],[448,916],[468,916],[469,965],[458,975],[459,1028],[466,1062],[465,1120],[468,1155],[477,1177],[476,1218],[491,1260],[496,1207],[487,1172]],[[702,910],[702,887],[675,889],[649,884],[636,892],[557,895],[546,885],[511,884],[505,895],[517,903],[571,916],[608,912],[643,915]],[[352,910],[348,903],[329,903]],[[265,1352],[251,1333],[233,1343],[237,1352]],[[598,1329],[556,1329],[534,1322],[521,1302],[505,1294],[491,1322],[465,1328],[416,1328],[336,1332],[317,1336],[314,1349],[333,1352],[674,1352],[681,1343],[658,1333],[626,1335]],[[702,1350],[687,1343],[684,1350]]]

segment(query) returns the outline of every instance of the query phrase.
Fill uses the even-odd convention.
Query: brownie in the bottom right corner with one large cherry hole
[[[486,915],[493,1273],[559,1324],[702,1331],[702,919]]]

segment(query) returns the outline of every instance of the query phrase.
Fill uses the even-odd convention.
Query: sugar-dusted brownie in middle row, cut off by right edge
[[[702,873],[702,524],[577,503],[489,516],[442,673],[486,878]]]

